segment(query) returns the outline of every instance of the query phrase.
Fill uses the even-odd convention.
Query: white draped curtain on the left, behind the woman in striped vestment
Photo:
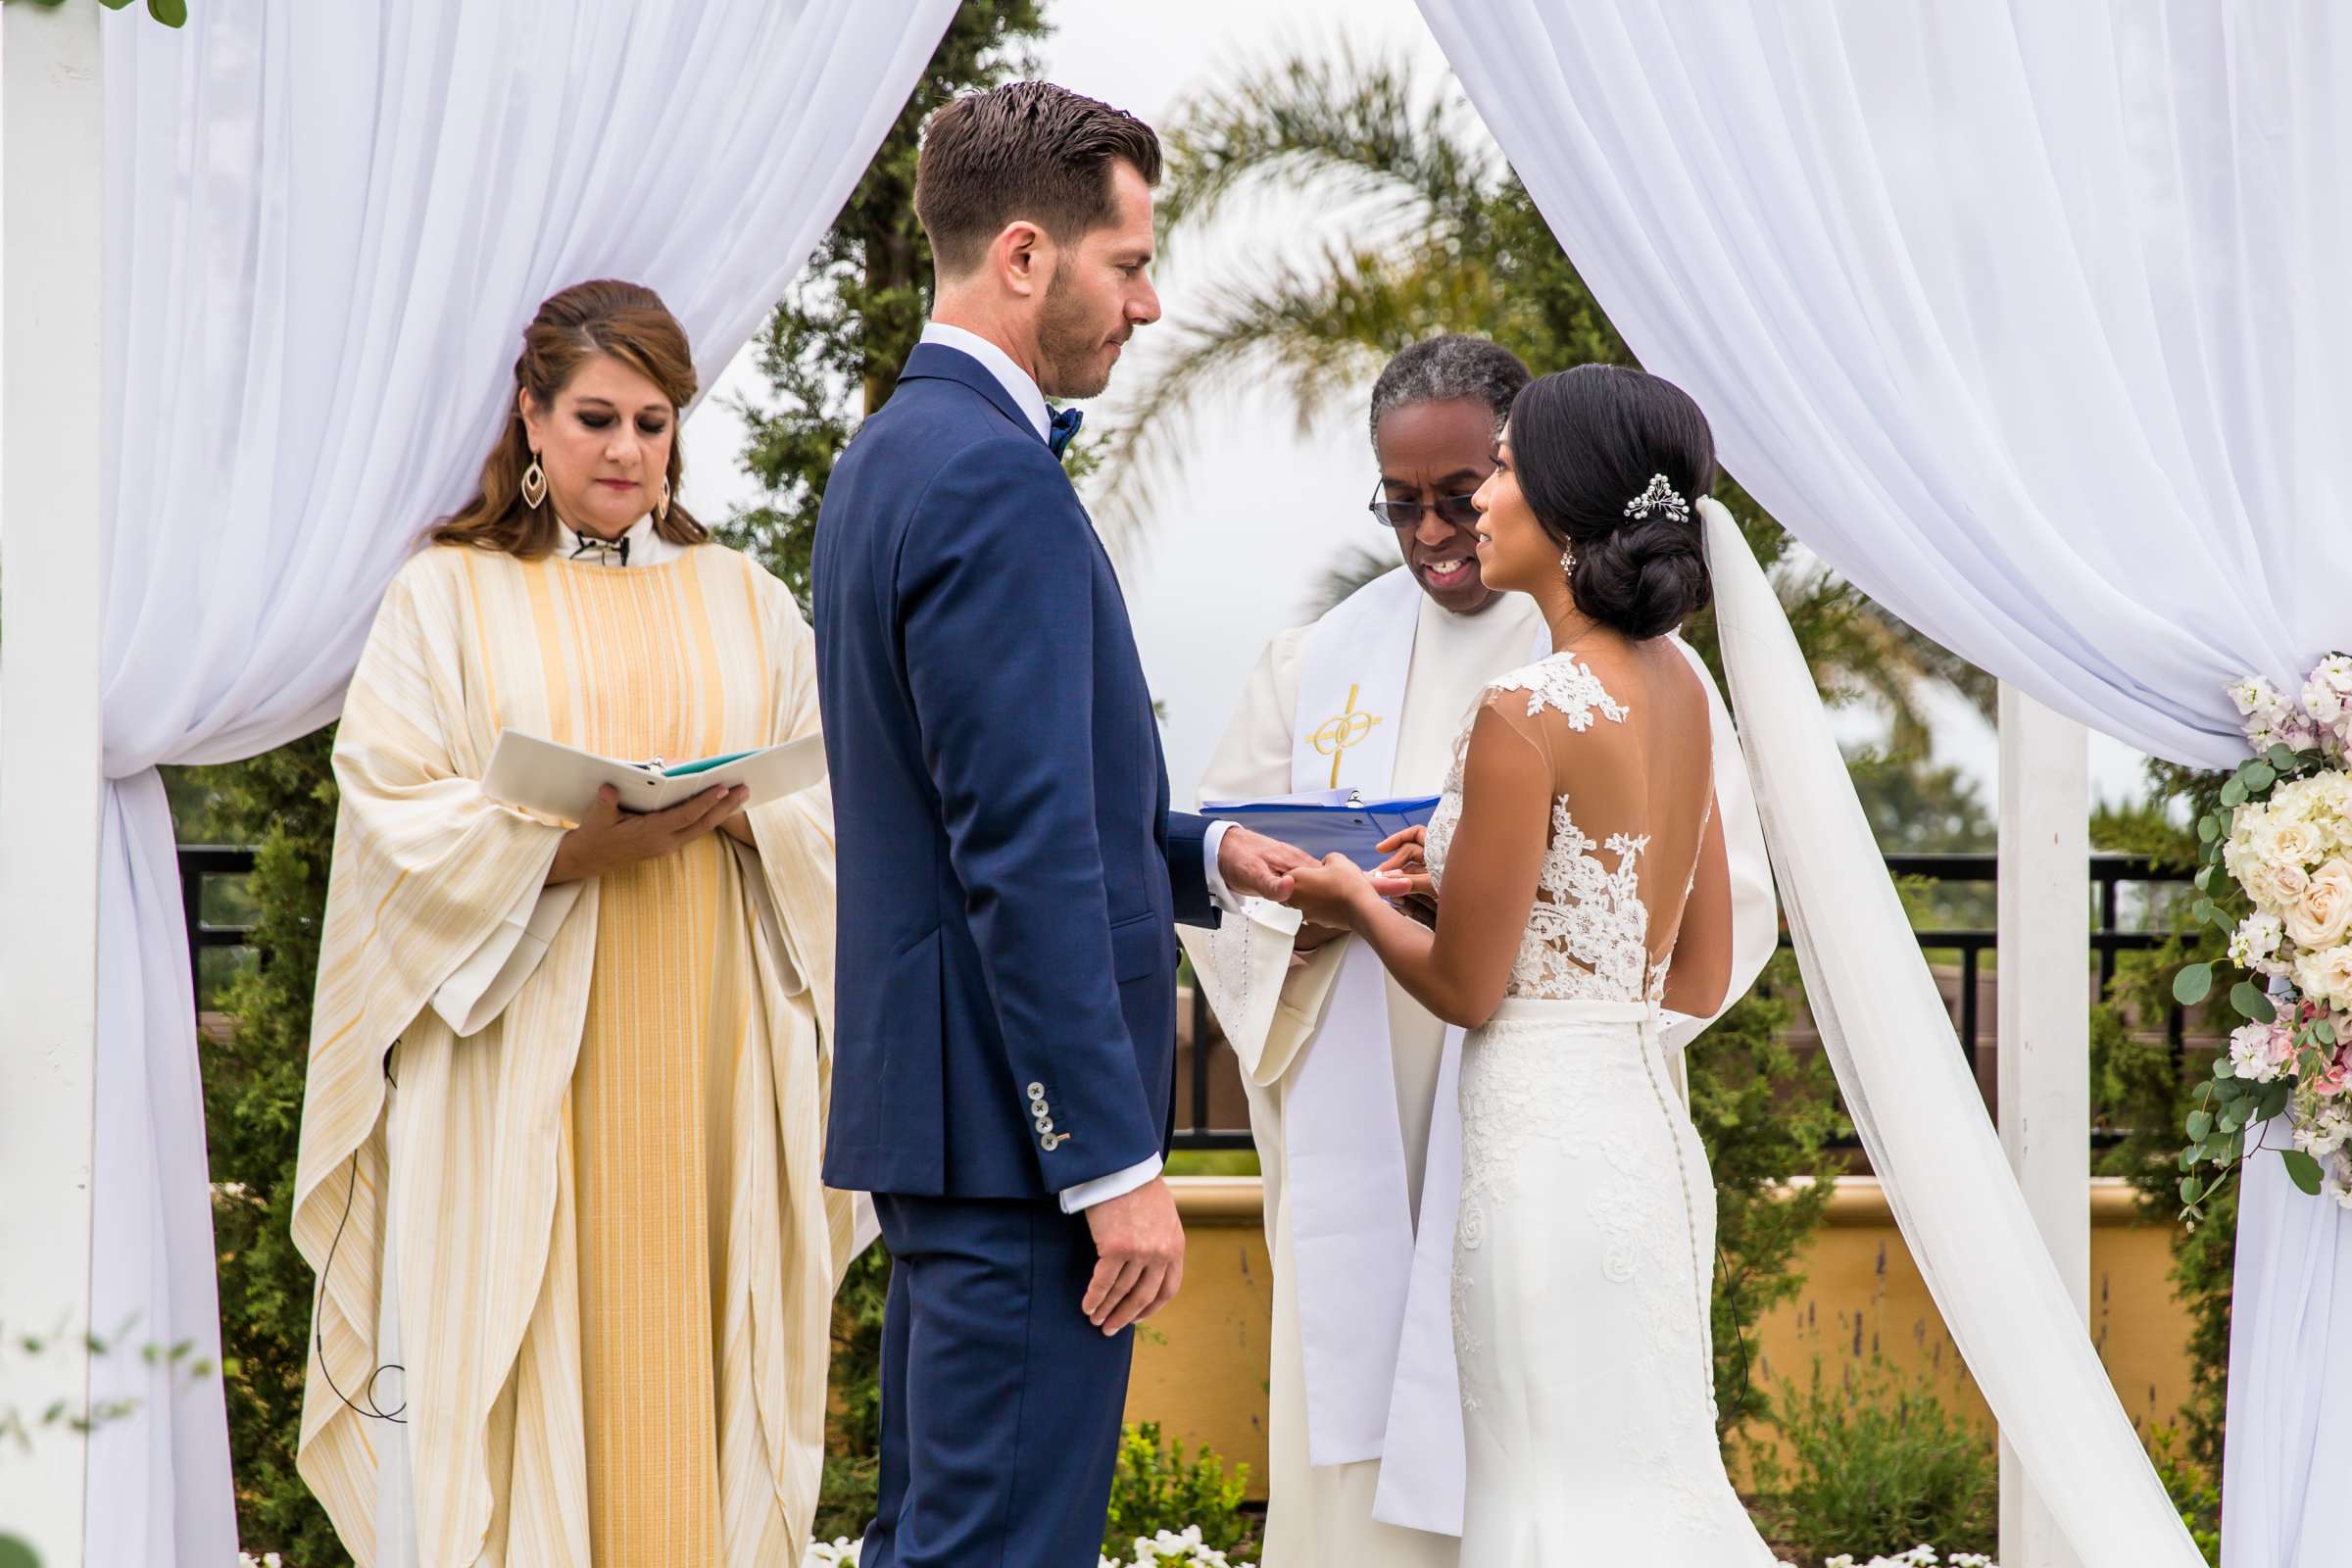
[[[522,324],[652,284],[708,386],[807,261],[953,0],[207,0],[106,19],[106,776],[92,1324],[219,1349],[158,764],[329,722],[470,491]],[[235,1173],[228,1173],[235,1175]],[[101,1356],[92,1563],[235,1561],[219,1380]]]

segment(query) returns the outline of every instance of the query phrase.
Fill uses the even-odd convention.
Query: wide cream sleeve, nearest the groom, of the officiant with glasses
[[[1242,689],[1225,738],[1202,773],[1202,799],[1289,795],[1298,670],[1308,630],[1296,628],[1265,644],[1265,656]],[[1294,969],[1298,910],[1265,898],[1244,898],[1240,914],[1216,931],[1183,929],[1176,936],[1192,959],[1209,1011],[1225,1030],[1242,1072],[1254,1084],[1282,1079],[1298,1046],[1322,1023],[1350,938],[1324,943]]]

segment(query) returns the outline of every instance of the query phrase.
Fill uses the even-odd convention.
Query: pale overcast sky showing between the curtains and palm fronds
[[[1444,56],[1411,0],[1051,0],[1047,73],[1080,92],[1167,125],[1181,106],[1235,66],[1291,49],[1352,47],[1359,56],[1411,59],[1432,85],[1451,89]],[[1204,242],[1185,244],[1157,284],[1167,322],[1185,320],[1221,280],[1298,254],[1322,233],[1279,207],[1237,214]],[[1129,355],[1120,381],[1089,409],[1115,418],[1120,393],[1141,381],[1145,353]],[[1550,369],[1550,367],[1536,367]],[[746,360],[720,390],[757,386]],[[1364,393],[1371,381],[1367,376]],[[706,517],[750,496],[741,473],[741,425],[706,400],[684,425],[687,498]],[[1315,430],[1298,433],[1279,397],[1235,393],[1188,425],[1181,468],[1150,491],[1143,550],[1124,562],[1129,607],[1145,672],[1167,705],[1169,773],[1178,799],[1216,748],[1265,639],[1310,618],[1317,581],[1352,545],[1392,550],[1364,512],[1374,487],[1362,400]],[[1842,719],[1851,741],[1870,726]],[[2093,792],[2140,795],[2138,755],[2093,736]],[[1987,806],[1997,799],[1992,731],[1962,703],[1938,708],[1936,752],[1976,773]]]

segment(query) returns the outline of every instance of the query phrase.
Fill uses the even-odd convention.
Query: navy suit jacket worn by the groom
[[[1164,1152],[1209,823],[1169,811],[1110,559],[981,362],[915,348],[833,468],[814,576],[826,1185],[1047,1197]]]

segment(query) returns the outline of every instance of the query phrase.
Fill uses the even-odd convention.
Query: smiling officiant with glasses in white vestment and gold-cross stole
[[[1381,371],[1371,510],[1404,564],[1272,639],[1202,778],[1204,802],[1329,788],[1437,795],[1484,684],[1550,654],[1536,602],[1491,592],[1472,552],[1470,496],[1526,381],[1510,350],[1470,336],[1416,343]],[[1738,997],[1771,957],[1778,922],[1719,696],[1715,719]],[[1451,1568],[1463,1519],[1449,1309],[1461,1030],[1406,997],[1369,947],[1301,931],[1279,905],[1249,900],[1221,931],[1181,938],[1240,1056],[1265,1173],[1275,1324],[1263,1561]],[[1684,1020],[1677,1044],[1700,1027]]]

